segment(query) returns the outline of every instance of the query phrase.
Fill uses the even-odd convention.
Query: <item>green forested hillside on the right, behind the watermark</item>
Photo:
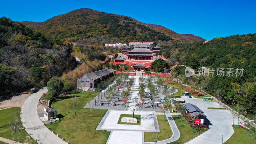
[[[256,34],[220,37],[204,44],[195,42],[179,49],[172,59],[197,72],[202,66],[210,70],[213,68],[214,76],[210,74],[186,80],[188,83],[196,82],[199,88],[213,95],[224,92],[224,102],[230,105],[241,104],[246,113],[256,112]],[[216,76],[218,68],[224,68],[224,76]],[[243,74],[240,73],[241,69],[244,69]]]

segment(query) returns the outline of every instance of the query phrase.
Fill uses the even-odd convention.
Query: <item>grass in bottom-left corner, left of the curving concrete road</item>
[[[14,107],[14,108],[6,108],[0,110],[0,137],[6,138],[6,139],[12,139],[11,132],[9,131],[9,124],[11,121],[14,120],[13,118],[13,111],[17,112],[20,117],[20,108]],[[19,122],[18,128],[22,128],[22,124]],[[23,129],[20,131],[20,142],[24,143],[30,143],[30,144],[37,144],[35,140],[33,140],[28,133]]]

